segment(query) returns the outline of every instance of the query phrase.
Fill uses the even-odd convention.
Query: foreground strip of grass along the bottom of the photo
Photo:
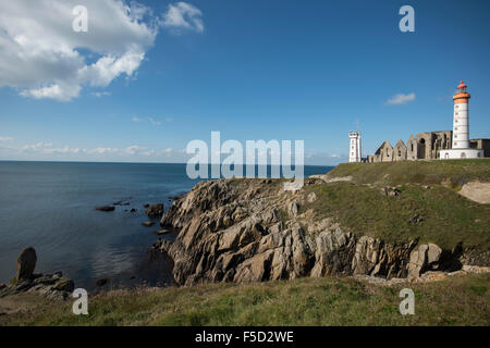
[[[384,287],[353,278],[301,278],[253,285],[114,290],[0,315],[3,325],[489,325],[490,275]],[[415,315],[399,313],[400,289],[415,291]]]

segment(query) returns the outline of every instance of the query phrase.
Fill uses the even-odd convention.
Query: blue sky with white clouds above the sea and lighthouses
[[[185,162],[217,130],[334,165],[357,123],[363,157],[452,129],[461,79],[490,138],[488,0],[35,3],[0,1],[0,160]]]

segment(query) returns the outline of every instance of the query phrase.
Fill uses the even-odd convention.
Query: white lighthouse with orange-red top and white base
[[[464,82],[457,86],[453,96],[453,142],[452,149],[441,150],[440,159],[476,159],[483,157],[483,150],[469,148],[469,98]]]

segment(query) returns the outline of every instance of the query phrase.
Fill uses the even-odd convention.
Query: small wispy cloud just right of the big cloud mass
[[[161,25],[180,33],[182,29],[204,32],[201,20],[203,13],[196,7],[186,2],[169,4],[168,11],[163,14]]]

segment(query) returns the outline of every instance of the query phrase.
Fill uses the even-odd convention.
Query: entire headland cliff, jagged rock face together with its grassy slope
[[[488,265],[488,204],[442,184],[383,185],[335,171],[306,179],[295,192],[284,191],[281,179],[201,182],[166,212],[161,225],[179,234],[156,248],[173,260],[176,284],[187,286],[326,275],[416,278]]]

